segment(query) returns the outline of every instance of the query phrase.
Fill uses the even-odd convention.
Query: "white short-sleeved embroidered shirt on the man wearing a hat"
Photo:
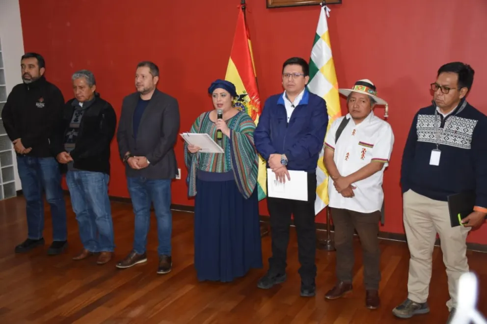
[[[335,143],[335,134],[343,118],[350,118],[350,121],[343,129],[338,142]],[[371,112],[358,125],[355,125],[351,118],[350,114],[337,118],[325,137],[327,149],[334,150],[333,160],[340,175],[348,176],[371,161],[382,162],[384,167],[370,177],[352,184],[356,187],[353,190],[355,196],[352,198],[345,198],[338,193],[330,177],[329,206],[359,213],[373,213],[382,208],[384,200],[382,180],[384,168],[389,164],[391,157],[394,134],[389,123],[376,117],[374,112]]]

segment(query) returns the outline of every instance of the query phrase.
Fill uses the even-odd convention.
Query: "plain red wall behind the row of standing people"
[[[389,102],[396,136],[385,173],[386,224],[382,231],[404,233],[399,173],[402,150],[414,113],[431,100],[429,84],[448,61],[468,62],[476,71],[469,101],[487,113],[487,1],[343,0],[331,5],[328,27],[338,82],[376,83]],[[47,78],[71,98],[71,74],[90,69],[97,87],[120,114],[122,98],[134,91],[135,65],[155,61],[162,73],[159,89],[179,100],[181,131],[212,109],[211,81],[225,76],[240,0],[133,1],[20,0],[25,50],[43,54]],[[266,0],[247,0],[261,100],[282,91],[282,62],[309,58],[319,7],[267,9]],[[145,7],[143,6],[145,5]],[[19,71],[20,73],[20,71]],[[346,108],[342,102],[342,110]],[[383,115],[383,109],[376,113]],[[186,177],[183,144],[176,155]],[[128,197],[123,165],[112,143],[110,195]],[[453,171],[453,170],[452,170]],[[173,185],[173,203],[192,205],[184,180]],[[261,213],[268,215],[266,203]],[[318,216],[324,220],[323,213]],[[469,242],[487,243],[487,225]]]

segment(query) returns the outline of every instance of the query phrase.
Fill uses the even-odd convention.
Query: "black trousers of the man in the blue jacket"
[[[271,179],[273,180],[273,179]],[[299,274],[304,285],[314,285],[316,277],[316,225],[315,225],[316,173],[308,173],[308,201],[267,198],[271,220],[272,256],[269,270],[284,274],[289,243],[291,215],[298,233]]]

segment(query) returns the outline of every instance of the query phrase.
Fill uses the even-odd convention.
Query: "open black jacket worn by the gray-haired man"
[[[54,156],[65,152],[66,132],[75,108],[74,99],[69,100],[62,112],[57,135],[51,138],[51,150]],[[70,152],[76,169],[110,174],[110,142],[115,135],[117,116],[111,105],[95,93],[95,101],[88,107],[81,118],[76,145]],[[61,172],[67,171],[66,164],[61,164]]]

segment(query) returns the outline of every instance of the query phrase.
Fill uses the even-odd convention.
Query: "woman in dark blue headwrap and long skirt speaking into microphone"
[[[198,280],[232,281],[262,268],[257,193],[255,123],[233,108],[235,85],[216,80],[208,89],[214,109],[194,121],[190,133],[206,133],[224,153],[202,153],[185,144],[189,196],[194,196],[194,267]],[[223,111],[217,118],[217,109]],[[217,140],[217,130],[222,138]]]

